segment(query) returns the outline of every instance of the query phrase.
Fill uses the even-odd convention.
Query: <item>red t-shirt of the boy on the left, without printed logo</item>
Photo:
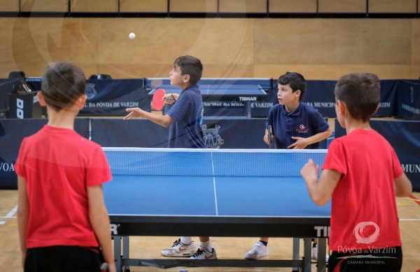
[[[45,125],[26,137],[15,171],[27,182],[27,247],[97,247],[89,220],[87,186],[112,179],[99,144],[74,130]]]

